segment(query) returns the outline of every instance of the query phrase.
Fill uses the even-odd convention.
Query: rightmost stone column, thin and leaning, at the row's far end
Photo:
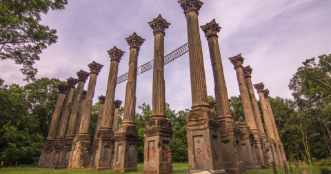
[[[281,139],[279,138],[277,124],[274,120],[274,113],[272,113],[271,104],[270,104],[270,100],[269,100],[269,90],[268,89],[263,90],[263,95],[264,95],[265,101],[268,104],[268,110],[269,110],[270,119],[272,122],[272,128],[274,128],[274,137],[276,138],[275,142],[277,144],[277,146],[276,146],[277,154],[279,156],[279,160],[280,160],[279,162],[281,163],[283,160],[285,160],[285,158],[283,157],[283,144],[281,143]]]

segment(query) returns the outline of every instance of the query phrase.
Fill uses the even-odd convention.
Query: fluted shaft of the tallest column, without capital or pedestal
[[[190,77],[192,92],[192,108],[209,108],[207,97],[207,85],[205,83],[205,68],[203,65],[203,53],[199,32],[197,10],[185,12],[188,25],[188,47],[190,56]]]

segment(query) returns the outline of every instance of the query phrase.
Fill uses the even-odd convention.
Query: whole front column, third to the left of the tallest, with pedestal
[[[105,109],[102,114],[101,128],[98,131],[95,155],[92,153],[91,165],[94,171],[110,170],[112,168],[112,156],[114,150],[114,132],[112,131],[112,115],[114,115],[114,97],[117,85],[117,72],[119,61],[124,55],[124,51],[116,48],[108,51],[110,56],[110,70],[105,99]],[[93,162],[94,161],[94,162]],[[93,165],[93,166],[92,166]]]

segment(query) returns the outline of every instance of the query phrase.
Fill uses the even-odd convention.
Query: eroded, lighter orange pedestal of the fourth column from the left
[[[85,168],[88,165],[88,148],[90,148],[90,139],[90,135],[88,134],[77,134],[74,137],[67,169]]]

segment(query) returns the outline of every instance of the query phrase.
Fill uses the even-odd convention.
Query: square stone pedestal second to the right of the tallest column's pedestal
[[[243,162],[245,163],[245,168],[261,168],[255,156],[254,135],[252,135],[252,131],[250,131],[250,128],[247,126],[246,123],[240,122],[238,123],[238,126],[241,132],[241,154],[243,155]]]

